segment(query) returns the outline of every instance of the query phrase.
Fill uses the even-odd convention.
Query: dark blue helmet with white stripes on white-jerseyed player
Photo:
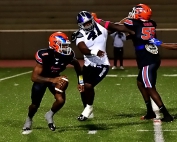
[[[77,24],[81,29],[90,32],[94,30],[95,22],[93,20],[92,15],[89,12],[81,11],[77,15]]]

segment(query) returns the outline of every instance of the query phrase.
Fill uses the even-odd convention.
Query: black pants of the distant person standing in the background
[[[123,66],[123,47],[114,47],[114,66],[117,66],[117,60],[120,61],[120,66]]]

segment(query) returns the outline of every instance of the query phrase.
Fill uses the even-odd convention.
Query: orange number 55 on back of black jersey
[[[143,40],[149,40],[155,35],[155,27],[143,27],[141,38]]]

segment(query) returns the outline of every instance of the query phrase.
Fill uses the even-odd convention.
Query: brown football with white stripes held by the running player
[[[55,90],[57,93],[63,93],[67,89],[69,84],[68,79],[65,76],[58,77],[58,83],[55,85]]]

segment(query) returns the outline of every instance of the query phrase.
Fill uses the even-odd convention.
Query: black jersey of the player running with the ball
[[[70,55],[63,55],[53,49],[46,48],[38,50],[35,59],[37,63],[43,66],[41,76],[57,77],[72,62],[74,57],[74,51],[71,51]]]

